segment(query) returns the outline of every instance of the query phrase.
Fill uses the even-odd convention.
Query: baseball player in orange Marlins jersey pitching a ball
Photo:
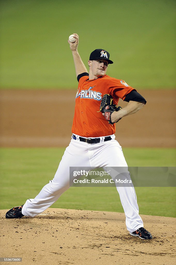
[[[6,213],[6,218],[35,217],[46,210],[70,187],[70,167],[128,168],[121,146],[115,140],[115,122],[136,113],[145,105],[146,100],[124,80],[106,74],[108,65],[113,64],[106,50],[96,49],[91,52],[88,73],[78,53],[79,36],[74,35],[76,41],[72,43],[68,40],[68,42],[79,84],[75,98],[71,142],[64,152],[54,178],[34,199],[28,199],[24,205],[10,209]],[[110,101],[103,106],[102,98],[105,94],[111,96],[113,104]],[[116,109],[119,98],[128,102],[123,109]],[[139,216],[134,187],[116,185],[116,188],[130,235],[151,239],[151,233],[143,228],[143,221]]]

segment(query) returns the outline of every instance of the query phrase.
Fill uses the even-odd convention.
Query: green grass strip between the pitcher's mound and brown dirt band
[[[64,150],[1,148],[0,209],[34,198],[53,178]],[[175,166],[175,149],[124,148],[123,152],[129,166]],[[136,193],[140,214],[176,217],[175,187],[136,187]],[[52,207],[123,212],[114,187],[71,187]]]

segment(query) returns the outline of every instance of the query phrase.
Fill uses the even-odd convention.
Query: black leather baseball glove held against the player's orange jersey
[[[105,119],[110,123],[114,124],[115,122],[111,122],[111,114],[114,111],[119,111],[121,107],[118,107],[116,104],[113,104],[113,98],[110,94],[105,94],[101,100],[100,111],[104,113]],[[118,120],[120,121],[121,118]],[[116,121],[116,122],[118,122]]]

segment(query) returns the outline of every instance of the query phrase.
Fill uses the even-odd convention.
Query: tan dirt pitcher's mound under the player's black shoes
[[[49,208],[35,218],[5,219],[6,211],[1,257],[22,264],[175,264],[176,218],[141,215],[153,235],[141,240],[129,235],[124,213]]]

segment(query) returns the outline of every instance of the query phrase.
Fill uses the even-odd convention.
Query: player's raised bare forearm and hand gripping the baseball
[[[70,50],[72,51],[72,54],[73,54],[76,77],[78,77],[79,74],[88,73],[88,71],[78,53],[79,36],[76,33],[73,33],[73,34],[75,35],[76,41],[72,43],[68,40],[68,43],[70,44]]]

